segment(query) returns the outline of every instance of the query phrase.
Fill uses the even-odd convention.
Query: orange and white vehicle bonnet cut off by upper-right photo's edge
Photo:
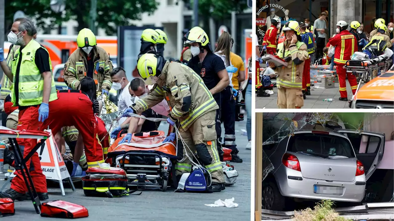
[[[355,100],[394,101],[394,71],[386,72],[362,86]]]

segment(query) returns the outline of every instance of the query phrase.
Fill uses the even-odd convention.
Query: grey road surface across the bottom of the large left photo
[[[239,221],[250,220],[251,203],[251,150],[245,149],[248,142],[247,137],[242,135],[245,130],[246,116],[243,122],[236,122],[236,139],[239,156],[243,163],[232,163],[238,171],[237,182],[232,187],[220,193],[174,193],[171,189],[167,192],[144,191],[141,195],[129,195],[120,198],[99,198],[86,197],[81,185],[76,183],[77,190],[72,192],[68,184],[66,195],[61,196],[59,188],[49,188],[49,200],[65,200],[85,206],[89,210],[89,217],[81,220],[188,220],[188,221]],[[166,131],[166,123],[162,123],[160,129]],[[223,130],[224,133],[224,130]],[[0,174],[0,179],[3,175]],[[0,180],[0,187],[4,184]],[[238,203],[237,208],[209,207],[204,204],[211,204],[221,199],[231,199]],[[22,220],[59,220],[56,218],[41,217],[35,213],[31,201],[16,201],[15,215],[2,217],[2,221],[22,221]]]

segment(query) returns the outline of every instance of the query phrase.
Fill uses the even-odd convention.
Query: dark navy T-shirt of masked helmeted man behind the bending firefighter
[[[220,78],[217,72],[226,69],[223,60],[212,52],[206,54],[202,63],[200,63],[198,56],[193,56],[189,60],[188,66],[199,74],[208,90],[211,90],[219,83]],[[213,96],[216,103],[220,105],[220,93],[216,93]]]

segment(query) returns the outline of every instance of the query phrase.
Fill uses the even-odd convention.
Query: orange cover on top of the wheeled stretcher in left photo
[[[137,136],[132,136],[132,139],[130,143],[134,144],[144,144],[144,145],[152,145],[152,144],[159,144],[160,142],[163,142],[163,140],[167,137],[165,136],[165,133],[163,131],[152,131],[152,132],[158,132],[158,136],[151,136],[151,137],[145,137],[145,138],[140,138]],[[132,145],[119,145],[119,142],[123,139],[123,136],[126,134],[123,134],[121,137],[117,138],[115,142],[108,148],[108,153],[113,153],[113,152],[127,152],[127,151],[158,151],[167,155],[173,155],[177,156],[177,150],[174,145],[171,144],[163,144],[160,145],[159,147],[152,147],[152,148],[141,148],[141,147],[134,147]]]

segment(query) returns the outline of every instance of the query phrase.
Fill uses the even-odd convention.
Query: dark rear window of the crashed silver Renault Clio
[[[353,148],[346,138],[329,134],[295,134],[289,141],[287,151],[302,152],[320,157],[355,157]]]

